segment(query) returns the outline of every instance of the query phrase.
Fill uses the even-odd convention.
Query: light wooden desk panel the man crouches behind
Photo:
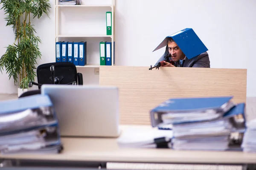
[[[120,123],[149,125],[149,111],[173,97],[234,96],[246,102],[247,70],[100,66],[99,84],[119,88]]]

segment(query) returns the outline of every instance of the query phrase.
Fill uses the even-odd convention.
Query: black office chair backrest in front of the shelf
[[[71,62],[51,62],[38,66],[37,79],[39,84],[52,84],[52,71],[50,70],[52,65],[54,66],[54,77],[59,81],[55,84],[77,82],[76,65]],[[38,88],[40,89],[40,87]]]

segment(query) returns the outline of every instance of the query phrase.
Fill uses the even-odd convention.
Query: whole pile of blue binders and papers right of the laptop
[[[153,127],[172,124],[172,148],[228,150],[231,133],[244,133],[244,103],[232,97],[176,98],[150,111]]]

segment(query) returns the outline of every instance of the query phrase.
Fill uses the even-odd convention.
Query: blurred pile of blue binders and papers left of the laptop
[[[49,96],[0,102],[0,153],[59,153],[58,119]]]

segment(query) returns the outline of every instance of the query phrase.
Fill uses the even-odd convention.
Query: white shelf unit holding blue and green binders
[[[61,37],[110,37],[111,38],[111,65],[114,65],[114,8],[115,8],[115,0],[111,0],[112,4],[109,5],[58,5],[58,0],[55,0],[55,42],[60,41]],[[60,8],[90,8],[90,7],[109,7],[111,8],[111,18],[112,18],[112,35],[107,35],[107,34],[59,34],[59,21],[60,21],[60,14],[59,14],[59,9]],[[110,10],[109,10],[110,11]],[[82,19],[81,19],[82,20]],[[87,56],[90,57],[90,56]],[[100,59],[100,57],[98,57]],[[87,59],[88,60],[88,59]],[[76,67],[78,68],[99,68],[100,64],[91,64],[87,63],[87,65],[84,66],[79,66],[77,65]]]

